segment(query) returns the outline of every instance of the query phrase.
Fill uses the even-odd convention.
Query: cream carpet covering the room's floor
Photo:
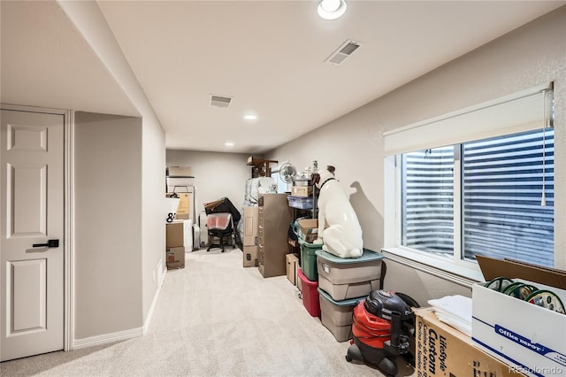
[[[0,364],[2,376],[380,376],[348,363],[287,276],[242,267],[238,249],[187,253],[165,274],[146,335]],[[413,369],[398,360],[400,375]]]

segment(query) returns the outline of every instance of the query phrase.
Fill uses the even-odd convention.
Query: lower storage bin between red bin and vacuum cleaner
[[[336,341],[346,342],[348,339],[352,339],[352,313],[356,304],[365,297],[334,301],[333,297],[320,287],[317,290],[322,324],[333,333]]]

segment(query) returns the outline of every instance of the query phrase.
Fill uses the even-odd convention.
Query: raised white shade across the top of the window
[[[550,119],[551,101],[548,84],[397,128],[384,134],[384,155],[542,128]]]

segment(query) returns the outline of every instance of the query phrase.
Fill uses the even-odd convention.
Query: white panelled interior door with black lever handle
[[[64,117],[2,110],[0,123],[5,361],[63,350]]]

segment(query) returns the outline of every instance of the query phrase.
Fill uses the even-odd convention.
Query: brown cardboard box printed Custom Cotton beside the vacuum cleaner
[[[470,336],[441,322],[432,308],[413,308],[416,376],[518,376],[509,365],[475,347]]]

